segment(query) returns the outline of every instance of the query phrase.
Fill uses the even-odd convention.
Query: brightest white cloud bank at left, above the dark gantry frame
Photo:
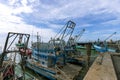
[[[40,32],[44,41],[48,41],[50,37],[56,34],[52,29],[41,29],[36,26],[26,24],[21,17],[13,15],[13,12],[13,8],[0,4],[0,44],[2,46],[4,45],[8,32],[32,34],[32,31],[34,30],[33,34]]]

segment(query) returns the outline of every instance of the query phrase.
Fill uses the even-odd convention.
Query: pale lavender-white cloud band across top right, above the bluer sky
[[[59,6],[49,6],[49,8],[44,7],[48,5],[40,3],[39,9],[37,9],[40,14],[36,13],[35,15],[44,19],[65,19],[84,17],[88,14],[113,13],[115,15],[120,13],[120,2],[118,0],[69,0],[63,1],[63,3]]]

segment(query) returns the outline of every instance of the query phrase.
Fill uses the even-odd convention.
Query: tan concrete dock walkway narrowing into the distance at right
[[[118,80],[112,62],[111,54],[104,53],[102,64],[98,64],[100,56],[96,58],[83,80]]]

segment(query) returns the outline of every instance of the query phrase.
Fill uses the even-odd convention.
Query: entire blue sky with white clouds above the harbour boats
[[[120,39],[120,0],[0,0],[0,44],[8,32],[37,34],[49,41],[68,21],[81,41]]]

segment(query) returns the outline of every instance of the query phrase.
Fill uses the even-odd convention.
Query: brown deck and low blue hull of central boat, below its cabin
[[[69,63],[63,67],[56,66],[55,68],[42,67],[38,62],[34,62],[33,60],[30,61],[30,64],[35,65],[36,67],[29,65],[29,68],[52,80],[73,80],[82,69],[82,67],[78,65]]]

